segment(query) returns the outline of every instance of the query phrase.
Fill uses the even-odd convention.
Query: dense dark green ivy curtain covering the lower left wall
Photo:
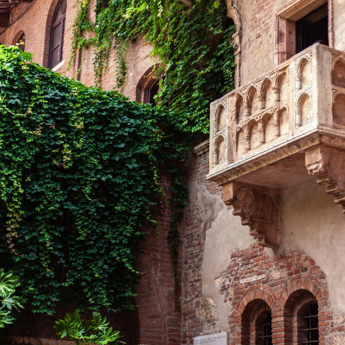
[[[133,308],[168,119],[30,59],[0,48],[0,260],[34,312]]]

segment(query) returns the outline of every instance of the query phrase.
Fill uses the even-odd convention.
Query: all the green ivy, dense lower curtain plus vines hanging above
[[[234,27],[223,1],[97,0],[95,23],[88,7],[80,1],[71,62],[96,47],[98,79],[116,49],[120,87],[127,49],[144,35],[161,66],[153,75],[164,77],[152,107],[0,48],[0,260],[21,277],[34,312],[53,313],[59,301],[133,307],[136,248],[142,226],[154,228],[163,166],[173,180],[168,241],[176,266],[185,189],[175,162],[193,136],[208,132],[209,102],[233,88]]]

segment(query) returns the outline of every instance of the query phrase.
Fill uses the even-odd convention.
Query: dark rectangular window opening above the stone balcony
[[[296,53],[319,42],[328,45],[328,4],[296,21]]]

